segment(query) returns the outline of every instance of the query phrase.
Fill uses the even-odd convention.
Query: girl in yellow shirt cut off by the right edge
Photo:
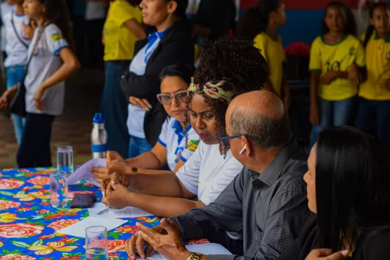
[[[355,122],[356,128],[376,134],[387,147],[390,147],[389,16],[385,3],[374,4],[370,9],[370,26],[361,39],[365,46],[367,81],[360,84]]]

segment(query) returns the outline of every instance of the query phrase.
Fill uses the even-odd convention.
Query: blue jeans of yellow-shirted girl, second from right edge
[[[320,125],[314,126],[311,134],[310,148],[316,143],[320,131],[332,126],[353,124],[353,115],[356,108],[356,97],[341,101],[329,101],[320,98]]]

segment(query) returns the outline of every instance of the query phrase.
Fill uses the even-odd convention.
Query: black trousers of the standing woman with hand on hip
[[[51,167],[51,126],[53,115],[27,113],[16,162],[19,168]]]

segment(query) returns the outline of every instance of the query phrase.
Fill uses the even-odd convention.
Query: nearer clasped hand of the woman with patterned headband
[[[131,191],[122,184],[111,181],[105,191],[105,204],[111,209],[123,209],[131,206]]]

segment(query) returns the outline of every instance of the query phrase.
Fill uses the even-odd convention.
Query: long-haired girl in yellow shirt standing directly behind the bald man
[[[269,81],[265,89],[284,99],[290,106],[290,89],[285,80],[283,64],[286,61],[282,38],[276,32],[286,23],[285,5],[281,0],[262,0],[249,9],[240,20],[236,34],[245,39],[254,40],[254,46],[268,62]]]

